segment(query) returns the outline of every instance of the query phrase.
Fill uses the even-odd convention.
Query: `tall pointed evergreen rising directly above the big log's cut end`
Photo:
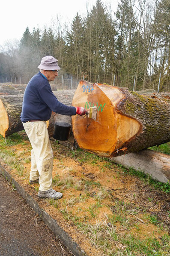
[[[104,72],[107,71],[108,63],[105,55],[108,50],[107,37],[114,38],[114,33],[110,35],[114,29],[110,28],[111,24],[105,7],[100,0],[97,0],[96,5],[92,7],[92,11],[87,16],[85,28],[86,69],[89,80],[97,81],[99,75],[100,81],[102,81]],[[113,43],[113,40],[111,41]]]

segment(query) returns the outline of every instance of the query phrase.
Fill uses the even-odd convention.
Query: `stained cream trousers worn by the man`
[[[46,121],[23,123],[32,145],[30,180],[39,179],[39,190],[52,188],[53,150],[48,136]]]

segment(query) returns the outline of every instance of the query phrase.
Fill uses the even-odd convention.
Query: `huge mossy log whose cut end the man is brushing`
[[[164,99],[164,98],[163,98]],[[170,100],[81,80],[73,106],[97,105],[97,120],[72,117],[80,148],[116,157],[170,141]]]

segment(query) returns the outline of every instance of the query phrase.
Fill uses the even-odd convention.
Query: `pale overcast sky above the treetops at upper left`
[[[102,0],[104,6],[116,11],[117,0]],[[0,45],[7,40],[21,39],[25,29],[30,31],[39,26],[51,24],[57,15],[64,22],[72,22],[76,13],[86,15],[96,0],[1,0],[0,3]]]

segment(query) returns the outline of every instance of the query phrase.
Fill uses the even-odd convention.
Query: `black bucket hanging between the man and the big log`
[[[70,123],[55,122],[53,138],[57,140],[68,140],[70,135],[70,128]]]

